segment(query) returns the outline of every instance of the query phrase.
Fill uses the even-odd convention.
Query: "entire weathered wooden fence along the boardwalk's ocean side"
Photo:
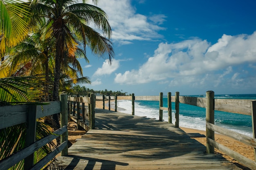
[[[159,101],[159,120],[162,121],[162,110],[168,110],[168,122],[172,123],[171,119],[171,102],[175,102],[175,127],[179,127],[179,104],[189,104],[193,106],[198,106],[206,108],[206,139],[207,139],[207,153],[214,153],[214,148],[224,152],[230,157],[236,159],[238,162],[243,165],[256,169],[256,101],[251,99],[214,99],[214,92],[207,91],[206,98],[204,97],[189,97],[189,96],[180,96],[179,92],[175,93],[175,96],[171,96],[171,93],[168,93],[168,107],[163,107],[163,93],[160,93],[158,96],[117,96],[115,97],[115,108],[117,108],[117,99],[126,99],[132,100],[132,115],[135,115],[134,101],[136,100],[149,100],[149,101]],[[104,100],[103,100],[104,101]],[[110,102],[109,102],[110,104]],[[116,111],[117,109],[115,109]],[[246,135],[233,132],[231,130],[221,128],[214,125],[214,110],[237,113],[243,115],[252,116],[252,128],[253,128],[253,137],[248,137]],[[239,153],[231,150],[214,140],[214,132],[218,132],[222,135],[231,137],[237,141],[243,142],[254,148],[255,161],[248,159],[247,157],[240,155]]]

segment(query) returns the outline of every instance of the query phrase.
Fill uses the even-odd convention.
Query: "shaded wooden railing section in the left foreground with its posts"
[[[36,137],[36,119],[61,113],[61,128],[38,141]],[[0,169],[6,170],[25,159],[25,170],[39,170],[52,160],[59,152],[67,155],[67,95],[61,95],[61,102],[49,102],[47,105],[16,105],[0,107],[0,129],[17,124],[27,124],[26,148],[0,160]],[[61,135],[61,145],[49,155],[34,164],[34,152]]]

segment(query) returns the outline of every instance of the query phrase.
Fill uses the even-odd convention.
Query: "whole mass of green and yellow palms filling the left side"
[[[98,0],[92,1],[97,5]],[[78,61],[83,58],[89,62],[88,49],[111,63],[111,27],[106,13],[94,5],[87,0],[0,0],[1,106],[56,101],[74,84],[90,83]],[[53,119],[59,123],[58,115]],[[38,139],[52,130],[42,121],[37,124],[37,133],[43,134]],[[0,130],[0,159],[24,147],[24,128],[20,125]],[[37,158],[48,151],[49,146],[41,156],[38,152]],[[20,162],[12,169],[22,166]]]

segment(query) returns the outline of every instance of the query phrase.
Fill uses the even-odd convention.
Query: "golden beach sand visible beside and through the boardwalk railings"
[[[108,104],[106,104],[106,103],[108,103],[108,101],[105,102],[105,109],[108,110]],[[103,108],[102,101],[96,101],[96,108]],[[111,110],[113,110],[113,109],[111,109]],[[69,121],[68,125],[69,125],[68,126],[68,134],[69,134],[68,139],[72,143],[74,143],[76,139],[81,138],[81,135],[85,134],[84,130],[77,130],[76,129],[76,123],[74,123],[73,121]],[[183,128],[183,127],[180,127],[180,128],[182,130],[184,130],[184,132],[186,132],[186,133],[200,133],[202,135],[205,135],[205,131],[203,131],[203,130],[196,130],[196,129]],[[193,138],[193,139],[199,141],[203,145],[206,145],[206,138],[205,137],[196,137],[196,138]],[[220,144],[222,144],[222,145],[240,153],[241,155],[243,155],[243,156],[245,156],[245,157],[247,157],[251,160],[254,160],[254,149],[252,147],[250,147],[246,144],[243,144],[239,141],[236,141],[232,138],[229,138],[229,137],[226,137],[224,135],[217,134],[217,133],[215,133],[215,140],[218,143],[220,143]],[[231,157],[225,155],[223,152],[220,152],[217,149],[215,149],[215,152],[216,152],[216,154],[221,154],[223,157],[225,157],[229,161],[238,164],[238,162],[236,160],[234,160]],[[240,166],[240,165],[238,164],[238,166]],[[244,167],[241,167],[241,168],[243,168],[244,170],[249,170],[249,168],[244,168]]]

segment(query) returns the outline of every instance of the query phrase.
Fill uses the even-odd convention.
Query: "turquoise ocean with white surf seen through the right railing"
[[[191,97],[205,97],[205,95],[191,95]],[[215,95],[215,98],[227,99],[255,99],[256,94],[246,95]],[[164,107],[167,107],[167,96],[163,97]],[[111,104],[115,107],[115,103]],[[117,111],[132,114],[131,100],[118,100]],[[159,101],[136,101],[135,115],[159,119]],[[168,112],[163,111],[164,121],[168,121]],[[172,102],[172,121],[175,124],[175,103]],[[180,104],[180,127],[205,130],[205,108]],[[215,110],[215,124],[243,135],[252,137],[252,117]]]

